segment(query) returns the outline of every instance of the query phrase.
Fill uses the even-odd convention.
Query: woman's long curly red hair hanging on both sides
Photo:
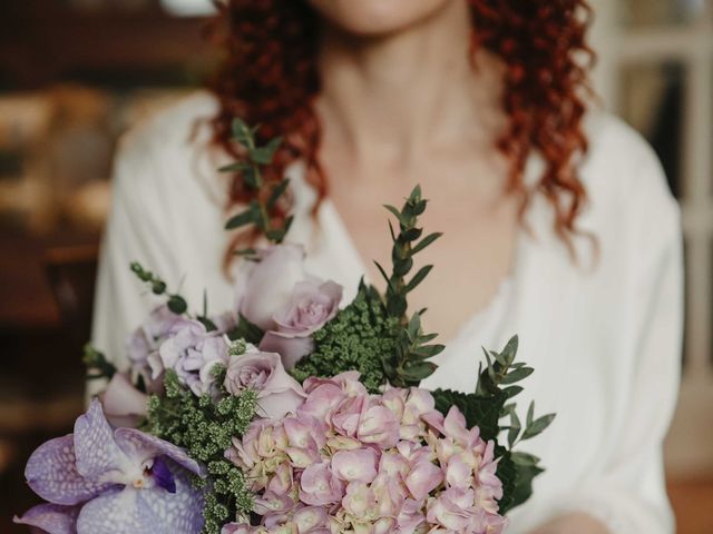
[[[525,162],[537,151],[546,164],[538,190],[554,207],[555,230],[570,246],[586,199],[576,159],[587,148],[582,121],[588,65],[579,60],[585,56],[590,62],[593,57],[585,42],[590,9],[585,0],[468,3],[472,57],[485,47],[505,65],[502,108],[509,122],[494,142],[510,161],[508,191],[521,196],[524,212],[530,197],[524,184]],[[262,141],[286,134],[265,179],[280,181],[287,165],[303,160],[307,181],[321,200],[328,180],[318,158],[321,127],[313,105],[320,92],[315,61],[319,16],[304,0],[223,0],[216,4],[218,14],[209,36],[225,58],[209,86],[221,102],[213,120],[215,142],[240,157],[231,139],[236,116],[262,125]],[[235,176],[228,207],[245,204],[251,195]],[[277,207],[272,216],[284,217],[284,206]],[[232,248],[226,263],[231,257]]]

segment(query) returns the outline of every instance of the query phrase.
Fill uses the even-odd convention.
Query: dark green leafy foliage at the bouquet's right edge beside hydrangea
[[[451,406],[458,406],[469,427],[477,425],[484,439],[496,442],[495,455],[499,458],[497,474],[502,481],[502,498],[499,501],[501,514],[525,503],[533,494],[533,479],[544,472],[538,457],[512,448],[519,442],[544,432],[555,418],[555,414],[536,418],[535,404],[530,403],[522,428],[516,404],[508,403],[522,390],[522,387],[514,384],[533,373],[531,367],[515,363],[517,347],[518,338],[515,336],[501,353],[485,352],[487,366],[478,369],[475,393],[465,394],[450,389],[433,392],[439,412],[447,414]],[[509,418],[509,425],[500,424],[500,419],[505,417]],[[498,442],[502,432],[507,432],[507,448]]]

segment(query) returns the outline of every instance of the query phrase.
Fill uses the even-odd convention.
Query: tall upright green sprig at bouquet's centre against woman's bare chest
[[[428,200],[421,196],[421,187],[416,186],[399,210],[393,206],[384,206],[399,221],[399,233],[391,231],[392,269],[388,275],[377,261],[377,268],[387,280],[385,310],[389,317],[397,320],[400,329],[397,332],[395,349],[384,356],[383,368],[389,382],[397,387],[418,385],[422,379],[436,370],[436,364],[428,362],[443,350],[443,345],[429,345],[437,334],[423,334],[421,316],[426,310],[419,310],[408,316],[408,295],[416,289],[433,268],[426,265],[409,277],[413,268],[413,257],[442,236],[440,233],[429,234],[421,238],[423,230],[419,228],[419,216],[426,211]]]

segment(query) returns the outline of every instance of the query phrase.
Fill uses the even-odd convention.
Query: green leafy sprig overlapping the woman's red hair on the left
[[[254,198],[245,210],[231,217],[225,224],[227,230],[254,225],[268,240],[282,243],[290,230],[293,217],[279,219],[275,222],[275,208],[290,185],[289,179],[277,184],[268,184],[263,177],[263,167],[272,164],[275,152],[282,144],[281,137],[271,139],[258,146],[256,135],[260,126],[250,127],[242,119],[233,119],[233,139],[245,152],[244,160],[219,168],[221,172],[240,172],[245,188],[254,192]],[[240,254],[240,253],[238,253]]]

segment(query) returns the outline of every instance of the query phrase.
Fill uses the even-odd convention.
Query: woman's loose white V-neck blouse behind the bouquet
[[[125,339],[156,305],[129,271],[139,260],[198,310],[204,289],[214,313],[235,289],[222,270],[228,178],[209,149],[217,103],[196,93],[124,140],[99,268],[94,343],[119,364]],[[580,167],[589,208],[580,225],[597,239],[577,243],[573,263],[537,197],[520,231],[515,269],[497,297],[467,322],[423,385],[472,390],[481,346],[500,349],[518,334],[518,358],[535,367],[517,398],[556,412],[550,428],[525,442],[546,472],[534,497],[510,514],[510,534],[566,511],[586,511],[612,533],[674,532],[665,494],[662,441],[676,400],[682,333],[682,238],[678,209],[655,156],[618,120],[590,113],[590,148]],[[537,176],[531,158],[527,176]],[[309,269],[355,294],[365,273],[333,204],[310,215],[313,191],[293,178],[291,240],[309,249]],[[595,257],[596,256],[596,257]],[[346,301],[346,300],[345,300]]]

